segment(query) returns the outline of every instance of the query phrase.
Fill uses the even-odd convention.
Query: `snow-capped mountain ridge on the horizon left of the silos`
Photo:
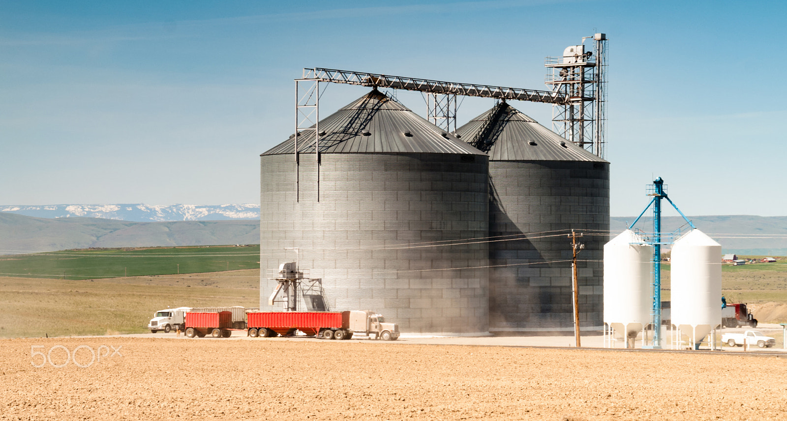
[[[0,212],[36,218],[104,218],[119,221],[223,221],[259,219],[253,203],[224,205],[148,205],[145,203],[61,204],[42,206],[0,205]]]

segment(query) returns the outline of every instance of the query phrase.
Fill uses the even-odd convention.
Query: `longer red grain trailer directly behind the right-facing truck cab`
[[[292,335],[296,330],[326,339],[349,339],[353,335],[349,330],[349,311],[247,313],[247,316],[252,338]]]

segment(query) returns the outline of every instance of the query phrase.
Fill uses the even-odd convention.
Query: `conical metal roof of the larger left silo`
[[[312,126],[313,128],[314,126]],[[320,120],[320,153],[459,153],[486,155],[372,90]],[[298,152],[314,153],[314,131],[298,136]],[[262,155],[294,153],[295,137]]]

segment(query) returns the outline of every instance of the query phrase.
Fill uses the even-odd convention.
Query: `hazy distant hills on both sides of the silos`
[[[722,244],[725,253],[787,255],[787,217],[717,215],[689,217]],[[614,236],[634,217],[611,218]],[[684,225],[680,217],[662,218],[663,232]],[[637,227],[652,230],[643,218]],[[103,218],[33,218],[0,212],[0,254],[88,247],[168,247],[259,244],[258,218],[235,221],[135,222]]]

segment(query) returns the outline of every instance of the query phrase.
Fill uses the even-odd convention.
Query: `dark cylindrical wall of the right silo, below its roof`
[[[609,164],[491,161],[490,185],[490,236],[529,237],[490,243],[490,331],[573,330],[567,232],[609,231]],[[608,235],[578,241],[580,327],[600,328]]]

